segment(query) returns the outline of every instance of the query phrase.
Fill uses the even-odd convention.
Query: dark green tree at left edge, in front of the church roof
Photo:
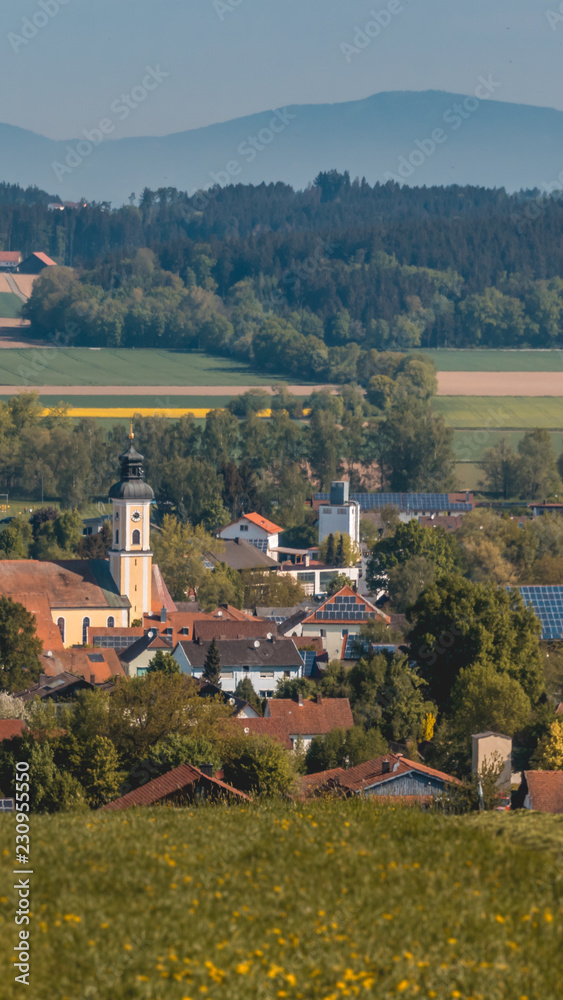
[[[21,691],[39,678],[35,615],[9,597],[0,597],[0,690]]]

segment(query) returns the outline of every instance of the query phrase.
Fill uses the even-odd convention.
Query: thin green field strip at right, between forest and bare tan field
[[[559,372],[563,351],[420,350],[439,372]]]

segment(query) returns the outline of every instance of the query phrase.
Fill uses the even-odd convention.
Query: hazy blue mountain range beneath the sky
[[[0,125],[0,180],[36,184],[65,201],[122,204],[145,187],[193,194],[228,182],[303,188],[321,170],[370,183],[542,188],[563,178],[563,112],[442,91],[294,105],[162,137],[119,138],[119,111],[68,142]],[[483,95],[489,94],[488,99]],[[121,106],[123,107],[123,106]],[[125,109],[126,110],[126,109]]]

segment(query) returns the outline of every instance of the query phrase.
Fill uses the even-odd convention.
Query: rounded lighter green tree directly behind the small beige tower
[[[514,736],[532,710],[518,681],[486,663],[460,670],[452,703],[454,725],[465,736],[488,729]]]

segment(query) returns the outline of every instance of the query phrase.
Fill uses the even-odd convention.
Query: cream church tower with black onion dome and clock
[[[152,611],[150,507],[154,500],[143,481],[143,456],[133,440],[131,425],[129,448],[119,456],[121,479],[109,491],[113,507],[109,568],[119,593],[131,602],[131,621]]]

